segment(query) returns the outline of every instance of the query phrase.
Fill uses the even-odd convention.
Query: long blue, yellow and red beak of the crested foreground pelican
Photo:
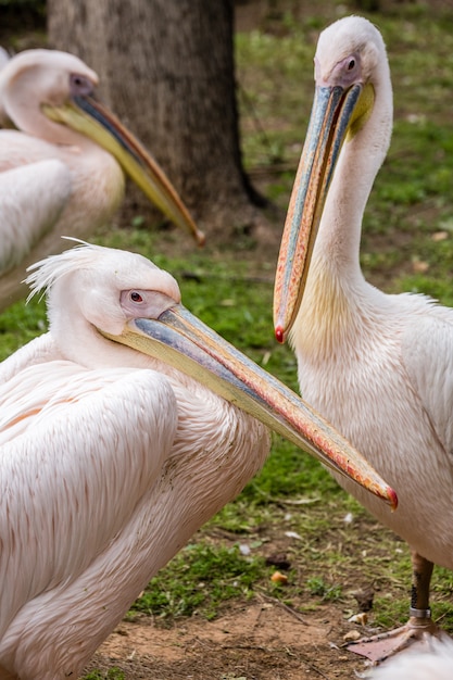
[[[183,305],[175,304],[158,319],[131,320],[121,336],[103,335],[194,378],[393,509],[397,507],[393,489],[331,425]]]

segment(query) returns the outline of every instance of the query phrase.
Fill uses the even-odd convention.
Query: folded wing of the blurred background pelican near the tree
[[[0,194],[2,275],[20,265],[54,226],[71,196],[71,174],[56,160],[7,169],[0,173]]]

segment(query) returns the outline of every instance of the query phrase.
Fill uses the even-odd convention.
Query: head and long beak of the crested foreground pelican
[[[190,314],[181,305],[175,279],[147,259],[81,244],[29,270],[32,294],[48,291],[50,330],[66,358],[79,362],[83,352],[89,362],[93,351],[96,364],[109,356],[134,365],[126,348],[135,356],[151,356],[397,506],[394,491],[348,441],[295,393]]]

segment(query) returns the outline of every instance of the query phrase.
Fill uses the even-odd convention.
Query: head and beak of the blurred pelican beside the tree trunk
[[[78,135],[109,151],[146,196],[199,244],[204,235],[162,168],[119,121],[95,99],[98,76],[56,50],[26,50],[0,71],[0,121],[52,143],[77,146]]]

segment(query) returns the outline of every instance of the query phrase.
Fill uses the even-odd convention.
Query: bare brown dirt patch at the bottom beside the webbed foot
[[[115,666],[130,680],[354,678],[366,665],[339,647],[350,628],[338,606],[309,618],[263,599],[236,603],[214,621],[192,617],[172,629],[149,619],[122,622],[91,667]]]

